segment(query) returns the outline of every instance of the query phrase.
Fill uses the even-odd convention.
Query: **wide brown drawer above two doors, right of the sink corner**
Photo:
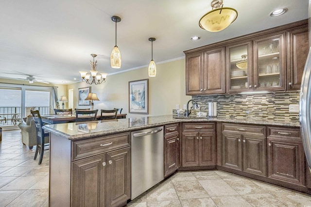
[[[242,125],[223,123],[223,132],[239,132],[241,134],[252,134],[266,136],[266,127],[257,125]]]

